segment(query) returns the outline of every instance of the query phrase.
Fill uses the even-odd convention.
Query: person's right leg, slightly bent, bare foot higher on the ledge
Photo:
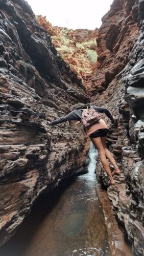
[[[107,146],[106,146],[106,139],[107,137],[101,137],[101,140],[102,140],[102,145],[103,145],[103,148],[104,148],[104,151],[105,151],[105,155],[106,157],[109,159],[109,161],[113,164],[114,166],[114,170],[112,172],[112,175],[114,174],[120,174],[121,173],[121,170],[118,169],[118,166],[115,162],[115,159],[113,157],[113,155],[111,154],[111,152],[107,149]]]

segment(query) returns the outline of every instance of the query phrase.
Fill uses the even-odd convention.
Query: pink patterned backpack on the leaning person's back
[[[88,106],[82,112],[81,122],[84,128],[90,127],[91,125],[98,123],[100,119],[100,113],[92,108],[88,108]]]

